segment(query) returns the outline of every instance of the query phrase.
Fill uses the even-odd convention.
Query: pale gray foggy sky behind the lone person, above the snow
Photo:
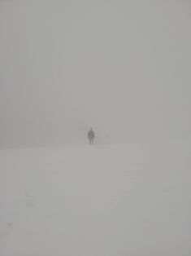
[[[191,139],[191,2],[0,1],[0,146]]]

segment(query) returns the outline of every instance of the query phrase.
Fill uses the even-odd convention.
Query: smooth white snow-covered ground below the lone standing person
[[[190,256],[191,144],[0,151],[1,256]]]

